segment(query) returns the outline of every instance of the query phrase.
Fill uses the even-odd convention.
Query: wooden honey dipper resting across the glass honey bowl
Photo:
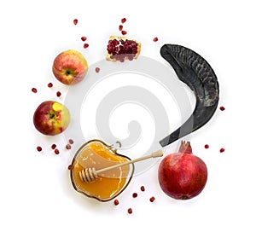
[[[161,156],[163,156],[163,152],[161,150],[158,150],[158,151],[154,152],[153,154],[148,154],[146,156],[143,156],[143,157],[140,157],[137,159],[133,159],[133,160],[129,160],[124,163],[117,164],[117,165],[111,165],[111,166],[102,168],[100,170],[96,170],[94,167],[87,167],[87,168],[84,168],[82,171],[79,171],[79,177],[82,182],[89,183],[91,181],[94,181],[98,177],[98,174],[102,173],[104,171],[109,171],[109,170],[118,168],[123,165],[130,165],[130,164],[136,163],[136,162],[144,160],[144,159],[161,157]]]

